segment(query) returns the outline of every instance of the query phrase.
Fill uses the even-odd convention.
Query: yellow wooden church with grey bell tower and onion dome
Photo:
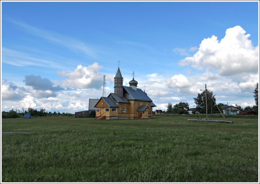
[[[114,77],[114,93],[101,97],[95,104],[95,119],[147,119],[153,117],[153,101],[143,90],[137,88],[134,79],[129,86],[123,86],[123,77],[118,67]]]

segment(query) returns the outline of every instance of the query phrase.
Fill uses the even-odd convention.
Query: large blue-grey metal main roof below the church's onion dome
[[[152,102],[152,100],[144,93],[141,89],[137,88],[134,90],[132,87],[123,86],[124,90],[131,96],[128,100],[141,100]],[[153,104],[154,105],[154,104]]]

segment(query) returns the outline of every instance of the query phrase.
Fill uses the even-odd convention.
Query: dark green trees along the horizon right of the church
[[[256,87],[253,93],[254,93],[255,105],[253,105],[252,107],[246,106],[245,108],[242,108],[240,105],[237,104],[235,106],[240,110],[254,110],[256,112],[256,115],[258,115],[258,82],[256,83]],[[221,109],[221,107],[223,106],[227,106],[227,104],[223,104],[223,103],[215,104],[214,103],[216,102],[215,95],[210,90],[207,90],[207,95],[206,95],[206,90],[204,90],[202,93],[198,93],[197,98],[193,98],[193,99],[196,104],[195,110],[192,111],[193,114],[195,114],[196,112],[199,112],[201,114],[206,113],[206,107],[208,113],[213,113],[213,114],[220,113],[219,109]],[[206,105],[206,101],[207,101],[207,105]],[[189,111],[189,105],[187,102],[186,103],[180,102],[179,104],[176,104],[174,106],[172,103],[169,102],[167,105],[166,113],[188,114],[189,113],[188,111]]]

